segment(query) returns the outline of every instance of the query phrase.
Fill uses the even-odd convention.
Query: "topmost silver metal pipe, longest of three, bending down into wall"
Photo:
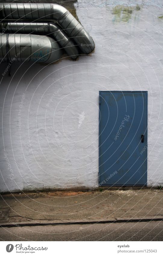
[[[0,19],[55,20],[74,39],[83,53],[88,54],[94,49],[91,36],[74,16],[61,5],[0,3]]]

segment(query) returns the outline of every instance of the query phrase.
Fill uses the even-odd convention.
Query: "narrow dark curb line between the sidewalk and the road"
[[[105,223],[126,223],[126,222],[150,222],[150,221],[163,221],[163,218],[137,218],[137,219],[117,219],[117,220],[100,220],[100,221],[95,221],[95,220],[90,220],[90,221],[69,221],[69,222],[37,222],[37,223],[4,223],[0,224],[0,227],[2,228],[11,228],[11,227],[24,227],[24,226],[48,226],[48,225],[85,225],[85,224],[105,224]]]

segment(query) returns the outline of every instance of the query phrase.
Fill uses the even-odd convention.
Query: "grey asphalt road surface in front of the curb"
[[[162,241],[163,221],[0,228],[1,241]]]

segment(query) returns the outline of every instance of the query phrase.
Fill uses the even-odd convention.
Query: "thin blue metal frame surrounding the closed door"
[[[100,185],[100,146],[101,146],[101,141],[100,141],[100,134],[101,134],[101,132],[100,132],[100,121],[101,121],[101,119],[100,119],[100,106],[101,106],[101,93],[108,93],[108,92],[110,92],[110,93],[119,93],[119,92],[121,92],[121,93],[125,93],[125,92],[130,92],[130,93],[146,93],[146,95],[147,95],[147,97],[146,97],[146,136],[147,136],[147,145],[146,145],[146,151],[144,152],[144,153],[146,153],[146,160],[145,160],[145,162],[146,162],[146,183],[144,184],[144,185],[142,185],[142,186],[147,186],[147,170],[148,170],[148,167],[147,167],[147,151],[148,151],[148,91],[117,91],[117,90],[108,90],[108,91],[106,91],[106,90],[104,90],[104,91],[102,91],[102,90],[100,90],[99,91],[99,186],[101,187],[101,186],[114,186],[114,185],[105,185],[105,184],[101,184]],[[123,185],[115,185],[116,187],[118,187],[118,186],[123,186]],[[124,186],[141,186],[141,185],[124,185]]]

